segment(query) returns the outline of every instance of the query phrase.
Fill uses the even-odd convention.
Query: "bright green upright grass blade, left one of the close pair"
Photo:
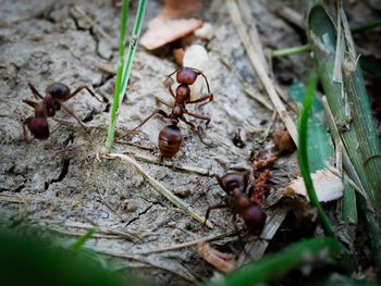
[[[119,97],[121,91],[123,63],[124,63],[124,41],[125,41],[125,29],[127,25],[127,12],[128,12],[128,0],[123,0],[122,12],[121,12],[121,32],[119,36],[119,65],[116,72],[116,84],[114,92],[114,101],[112,103],[111,120],[109,125],[108,137],[106,141],[106,148],[110,151],[114,139],[115,125],[116,125],[116,111],[119,108]]]

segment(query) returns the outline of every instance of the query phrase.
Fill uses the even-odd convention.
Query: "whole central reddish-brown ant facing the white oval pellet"
[[[176,94],[173,92],[172,86],[171,86],[171,76],[174,74],[176,74],[176,82],[179,83],[179,86],[176,88]],[[199,75],[205,78],[205,82],[206,82],[207,88],[208,88],[208,94],[204,97],[196,99],[196,100],[190,100],[189,85],[193,85]],[[122,136],[122,138],[125,138],[132,132],[142,127],[155,114],[160,114],[164,119],[171,120],[171,124],[167,125],[159,133],[158,145],[159,145],[159,150],[160,150],[160,153],[162,157],[172,158],[180,150],[180,146],[182,142],[182,134],[181,134],[180,128],[177,127],[179,121],[182,121],[185,124],[189,125],[192,130],[197,134],[197,136],[199,137],[201,142],[205,144],[206,146],[209,146],[208,144],[206,144],[202,140],[201,135],[197,130],[196,126],[192,122],[188,122],[184,116],[186,114],[189,116],[194,116],[196,119],[205,120],[206,126],[208,127],[208,124],[210,122],[209,117],[202,116],[199,114],[195,114],[195,113],[190,113],[185,109],[185,104],[187,104],[187,103],[190,104],[190,103],[199,103],[199,102],[206,101],[206,102],[200,104],[200,107],[201,107],[201,105],[205,105],[205,104],[213,101],[213,95],[210,92],[209,83],[208,83],[207,77],[204,75],[204,73],[201,71],[198,71],[198,70],[193,69],[193,67],[183,66],[183,67],[174,71],[173,73],[169,74],[164,80],[164,85],[167,86],[171,96],[174,98],[174,103],[170,104],[158,97],[156,97],[156,102],[162,103],[162,104],[171,108],[172,112],[170,114],[167,114],[161,109],[156,110],[152,114],[150,114],[147,119],[145,119],[139,125],[137,125],[135,128],[133,128],[132,130],[126,133],[124,136]]]

